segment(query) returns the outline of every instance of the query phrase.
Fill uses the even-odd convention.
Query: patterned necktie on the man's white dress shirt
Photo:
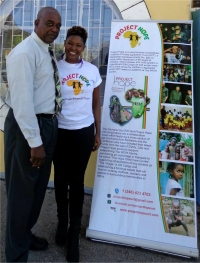
[[[53,54],[52,47],[49,46],[49,53],[51,55],[52,59],[52,65],[54,69],[54,80],[55,80],[55,87],[56,87],[56,100],[55,100],[55,112],[60,113],[62,109],[62,96],[61,96],[61,85],[60,85],[60,79],[58,76],[58,68],[56,65],[55,57]]]

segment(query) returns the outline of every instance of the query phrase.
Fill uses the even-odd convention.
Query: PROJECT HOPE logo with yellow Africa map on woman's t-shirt
[[[68,76],[66,76],[65,78],[63,78],[62,80],[62,84],[66,83],[66,85],[68,87],[72,87],[74,94],[78,95],[82,92],[84,92],[82,90],[82,86],[91,86],[89,80],[84,77],[83,75],[80,75],[78,73],[74,73],[74,74],[69,74]]]

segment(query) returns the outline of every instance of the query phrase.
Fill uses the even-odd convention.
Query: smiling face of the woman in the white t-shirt
[[[80,60],[81,53],[85,49],[83,39],[80,36],[70,36],[65,40],[66,61],[76,64]]]

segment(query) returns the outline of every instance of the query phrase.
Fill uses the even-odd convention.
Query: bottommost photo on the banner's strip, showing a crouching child
[[[195,237],[194,201],[164,197],[162,199],[167,232]]]

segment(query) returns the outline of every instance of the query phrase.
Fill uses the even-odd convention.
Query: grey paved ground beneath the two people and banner
[[[169,254],[158,253],[138,247],[125,247],[108,243],[94,242],[85,237],[88,227],[91,195],[85,195],[84,215],[80,240],[80,262],[200,262],[199,258],[183,258]],[[1,208],[1,261],[5,262],[5,210],[6,193],[5,182],[0,181],[0,208]],[[66,262],[65,249],[54,243],[54,234],[57,225],[54,190],[48,189],[38,223],[34,227],[36,235],[45,237],[49,241],[49,248],[42,252],[29,253],[29,262]],[[200,214],[198,214],[198,229]],[[198,234],[199,238],[199,234]]]

